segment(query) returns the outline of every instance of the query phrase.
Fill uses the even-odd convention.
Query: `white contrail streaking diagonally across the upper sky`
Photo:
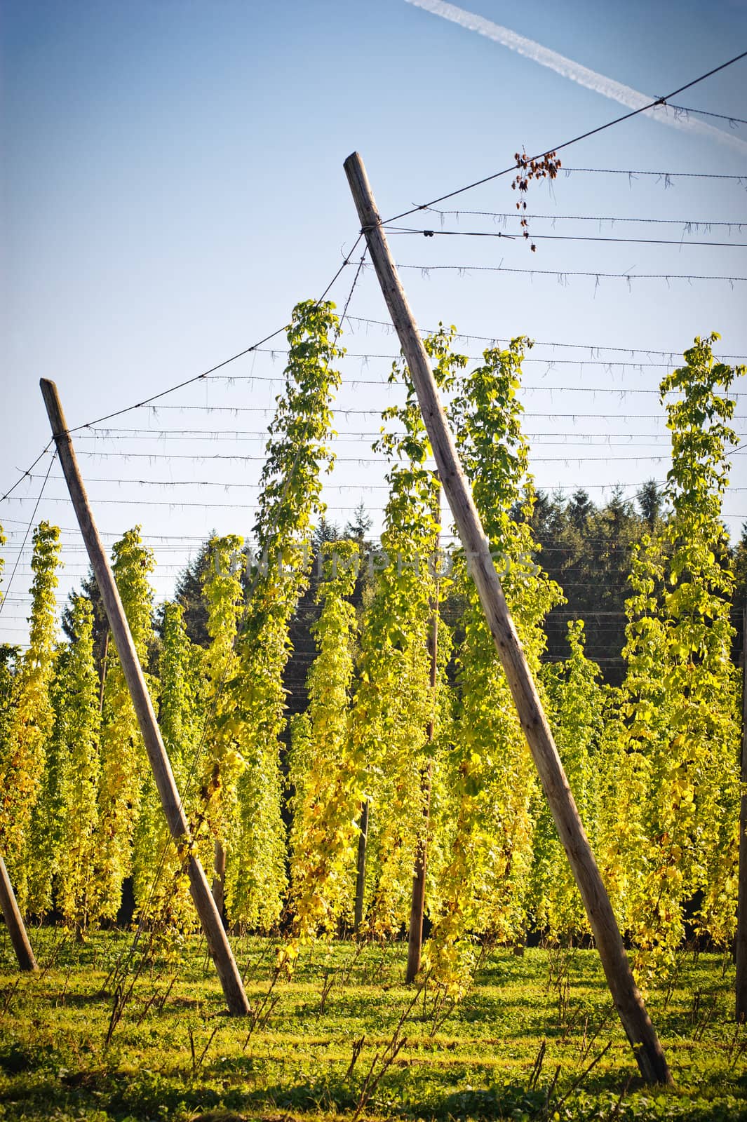
[[[540,63],[541,66],[554,70],[563,77],[570,79],[571,82],[578,82],[579,85],[584,85],[588,90],[601,93],[605,98],[619,101],[620,104],[627,105],[628,109],[640,109],[643,105],[647,105],[655,100],[645,93],[633,90],[629,85],[616,82],[603,74],[597,74],[596,71],[589,70],[588,66],[574,63],[573,59],[560,55],[556,50],[543,47],[540,43],[535,43],[534,39],[527,39],[523,35],[517,35],[516,31],[509,30],[507,27],[501,27],[500,24],[494,24],[492,20],[485,19],[482,16],[476,16],[474,12],[465,11],[453,3],[445,3],[443,0],[407,0],[407,3],[415,4],[416,8],[424,8],[425,11],[430,11],[434,16],[441,16],[443,19],[450,19],[453,24],[459,24],[460,27],[465,28],[468,31],[477,31],[478,35],[485,35],[486,38],[492,39],[494,43],[500,43],[504,47],[508,47],[509,50],[516,50],[519,55]],[[736,148],[738,151],[747,151],[747,141],[734,136],[734,134],[725,132],[723,129],[717,129],[704,121],[692,120],[684,114],[675,114],[673,110],[665,109],[664,107],[647,109],[645,110],[645,116],[653,117],[654,120],[660,121],[662,125],[671,125],[675,129],[686,129],[688,132],[698,132],[700,136],[708,136],[712,140],[720,140],[721,144],[726,144],[730,148]]]

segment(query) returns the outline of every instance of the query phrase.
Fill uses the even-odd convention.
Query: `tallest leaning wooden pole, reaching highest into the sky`
[[[439,401],[431,364],[399,283],[366,168],[358,153],[348,157],[344,168],[381,292],[417,392],[441,482],[459,527],[459,535],[470,562],[470,572],[478,588],[522,728],[583,900],[612,1000],[646,1083],[672,1084],[664,1051],[633,978],[607,890],[573,801],[532,671],[508,611],[500,580],[490,557],[490,546]]]

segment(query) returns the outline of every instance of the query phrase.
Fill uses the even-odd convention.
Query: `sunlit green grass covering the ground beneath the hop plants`
[[[397,942],[357,957],[351,944],[316,947],[265,1001],[273,948],[239,940],[252,1029],[224,1014],[197,944],[177,972],[149,965],[113,1024],[102,986],[131,937],[76,945],[43,929],[34,944],[38,976],[19,976],[7,939],[0,946],[0,1120],[9,1122],[350,1122],[357,1110],[439,1122],[747,1120],[747,1030],[734,1022],[734,969],[721,956],[684,954],[671,993],[649,995],[676,1080],[664,1092],[642,1086],[591,950],[498,950],[449,1010],[427,987],[412,1004]]]

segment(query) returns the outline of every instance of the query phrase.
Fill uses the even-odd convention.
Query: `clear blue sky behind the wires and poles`
[[[642,2],[600,6],[470,0],[463,7],[637,90],[660,95],[737,54],[747,44],[747,6],[738,2]],[[6,4],[2,48],[2,335],[3,440],[0,493],[48,439],[40,376],[58,384],[68,423],[131,405],[250,346],[287,322],[293,304],[317,295],[357,236],[342,171],[358,149],[380,210],[397,213],[506,167],[522,146],[541,150],[609,120],[616,103],[532,61],[404,2],[237,0],[37,0]],[[681,96],[681,102],[747,118],[747,61]],[[728,129],[727,122],[717,122]],[[737,130],[735,130],[737,131]],[[747,127],[737,135],[747,140]],[[568,167],[640,168],[747,175],[747,160],[710,139],[636,118],[563,154]],[[509,212],[510,176],[452,203]],[[529,213],[747,222],[745,184],[727,180],[561,174],[553,191],[528,197]],[[482,217],[444,215],[448,229],[502,229]],[[413,226],[441,224],[414,215]],[[515,223],[514,223],[515,224]],[[746,241],[732,229],[685,233],[682,226],[568,223],[536,219],[536,233],[605,233],[688,240]],[[652,233],[652,231],[655,231]],[[664,233],[663,231],[667,231]],[[406,265],[473,265],[545,269],[552,276],[404,269],[418,321],[444,320],[460,331],[506,338],[526,333],[555,343],[681,352],[695,333],[719,330],[722,353],[747,355],[747,285],[566,277],[557,273],[747,275],[747,250],[573,241],[393,236]],[[344,301],[347,270],[332,293]],[[385,319],[374,277],[366,274],[353,315]],[[356,353],[394,353],[389,334],[353,322],[344,342]],[[478,353],[479,342],[463,349]],[[533,465],[544,487],[635,485],[663,478],[666,453],[661,410],[652,390],[664,367],[555,365],[592,352],[535,347],[525,366],[524,396]],[[597,361],[629,356],[599,352]],[[665,362],[662,356],[648,361]],[[240,360],[233,373],[261,379],[282,374],[282,355]],[[341,408],[381,407],[386,359],[347,359]],[[358,383],[356,383],[358,377]],[[366,385],[361,381],[367,383]],[[370,384],[368,384],[370,383]],[[381,385],[377,386],[377,383]],[[548,386],[557,387],[553,390]],[[628,393],[610,394],[615,387]],[[81,442],[89,491],[108,541],[140,522],[159,558],[156,587],[174,573],[210,530],[247,533],[259,461],[206,462],[190,456],[260,456],[259,435],[231,442],[229,431],[257,432],[264,414],[205,413],[205,405],[268,407],[269,380],[201,384],[166,399],[190,411],[140,410],[112,422],[138,435]],[[598,393],[592,393],[598,389]],[[645,393],[634,393],[644,390]],[[747,387],[743,389],[747,393]],[[658,419],[657,419],[658,414]],[[564,417],[561,415],[565,415]],[[736,427],[747,433],[747,398]],[[340,419],[341,462],[330,506],[362,499],[372,509],[380,465],[368,439],[376,419]],[[149,440],[144,430],[221,429],[220,441],[197,435]],[[587,435],[588,434],[588,435]],[[622,438],[626,438],[624,440]],[[646,447],[644,440],[651,440]],[[629,438],[629,439],[627,439]],[[640,444],[637,449],[633,445]],[[112,452],[138,457],[122,460]],[[164,459],[178,450],[183,459]],[[90,452],[107,452],[91,456]],[[148,453],[158,452],[158,458]],[[734,458],[729,525],[747,517],[744,458]],[[53,469],[57,475],[58,469]],[[144,480],[120,484],[114,480]],[[107,481],[109,480],[109,481]],[[170,486],[153,486],[155,482]],[[242,484],[243,490],[197,487]],[[179,484],[194,482],[195,486]],[[335,486],[338,485],[335,484]],[[10,532],[7,582],[40,481],[0,507]],[[74,521],[64,485],[50,480],[39,508],[66,527]],[[203,507],[169,506],[179,496]],[[57,502],[56,499],[59,499]],[[147,500],[146,505],[142,500]],[[164,505],[150,505],[160,503]],[[216,504],[231,504],[219,506]],[[347,512],[331,516],[343,523]],[[80,540],[65,531],[62,590],[85,570]],[[21,560],[11,594],[24,596]],[[12,609],[12,610],[11,610]],[[22,637],[25,601],[9,603],[2,637]]]

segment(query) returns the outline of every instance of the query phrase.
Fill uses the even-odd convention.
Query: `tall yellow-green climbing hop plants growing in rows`
[[[154,611],[138,530],[112,564],[227,921],[302,941],[395,936],[425,877],[426,962],[462,992],[486,944],[589,937],[469,572],[440,544],[439,481],[408,373],[384,413],[380,542],[324,518],[338,324],[298,305],[251,552],[214,537]],[[666,486],[600,506],[535,493],[518,402],[524,341],[434,374],[506,597],[621,927],[654,978],[685,921],[736,921],[739,690],[735,567],[721,522],[740,370],[695,340],[662,383]],[[315,527],[315,528],[314,528]],[[0,848],[22,908],[84,932],[132,885],[174,939],[192,912],[117,652],[89,582],[55,635],[58,532],[35,534],[30,646],[3,662]]]

